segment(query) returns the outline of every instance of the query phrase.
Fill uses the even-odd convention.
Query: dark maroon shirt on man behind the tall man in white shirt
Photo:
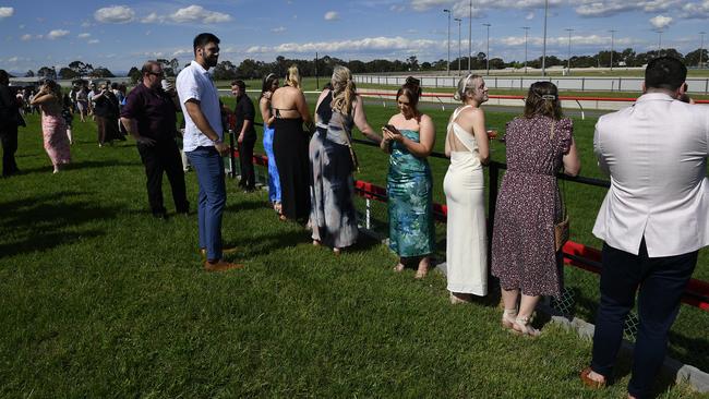
[[[139,83],[125,97],[121,117],[137,121],[140,135],[153,140],[171,140],[177,135],[177,107],[163,87]]]

